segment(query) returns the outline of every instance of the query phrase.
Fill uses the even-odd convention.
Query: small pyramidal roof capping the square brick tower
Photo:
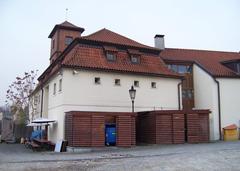
[[[75,26],[74,24],[68,22],[68,21],[64,21],[61,24],[56,24],[53,28],[53,30],[51,31],[51,33],[49,34],[48,38],[52,38],[52,36],[55,34],[55,32],[58,29],[64,29],[64,30],[72,30],[72,31],[79,31],[80,33],[84,32],[84,28],[82,27],[78,27]]]

